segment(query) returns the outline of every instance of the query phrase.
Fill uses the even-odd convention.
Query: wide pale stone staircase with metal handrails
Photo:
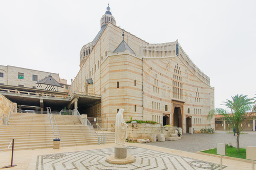
[[[60,133],[58,137],[61,139],[60,147],[98,144],[98,137],[93,129],[83,126],[77,116],[53,116]],[[55,134],[58,134],[55,126],[54,131]],[[99,132],[99,134],[101,133]],[[53,135],[52,125],[47,114],[12,113],[9,125],[0,126],[1,151],[9,146],[12,139],[14,139],[15,150],[53,148],[54,138],[56,137]],[[106,143],[114,142],[115,133],[106,132]]]

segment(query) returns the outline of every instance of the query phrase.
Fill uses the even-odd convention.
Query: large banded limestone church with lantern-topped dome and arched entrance
[[[214,128],[207,121],[214,108],[214,88],[188,57],[178,40],[150,44],[116,26],[107,7],[101,29],[80,52],[80,70],[71,92],[100,95],[101,100],[78,106],[79,112],[102,117],[110,130],[116,113],[124,108],[124,119],[151,120],[171,124],[188,132]],[[79,99],[78,99],[79,101]]]

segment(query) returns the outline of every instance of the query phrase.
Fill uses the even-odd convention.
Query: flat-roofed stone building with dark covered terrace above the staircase
[[[59,111],[70,103],[68,92],[67,80],[59,74],[0,65],[0,94],[20,109],[45,111],[52,106]]]

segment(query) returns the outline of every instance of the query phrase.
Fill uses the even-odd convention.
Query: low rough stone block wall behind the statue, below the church
[[[127,139],[136,142],[137,139],[148,138],[151,134],[163,133],[164,137],[171,137],[175,134],[177,127],[163,127],[163,124],[149,124],[149,123],[127,123]],[[115,124],[111,124],[111,131],[115,132]]]

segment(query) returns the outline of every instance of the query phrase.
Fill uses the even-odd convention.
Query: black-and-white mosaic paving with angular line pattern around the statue
[[[219,164],[140,147],[127,147],[127,154],[135,156],[134,163],[114,165],[106,162],[108,156],[114,155],[114,148],[41,155],[37,157],[36,169],[220,169]]]

